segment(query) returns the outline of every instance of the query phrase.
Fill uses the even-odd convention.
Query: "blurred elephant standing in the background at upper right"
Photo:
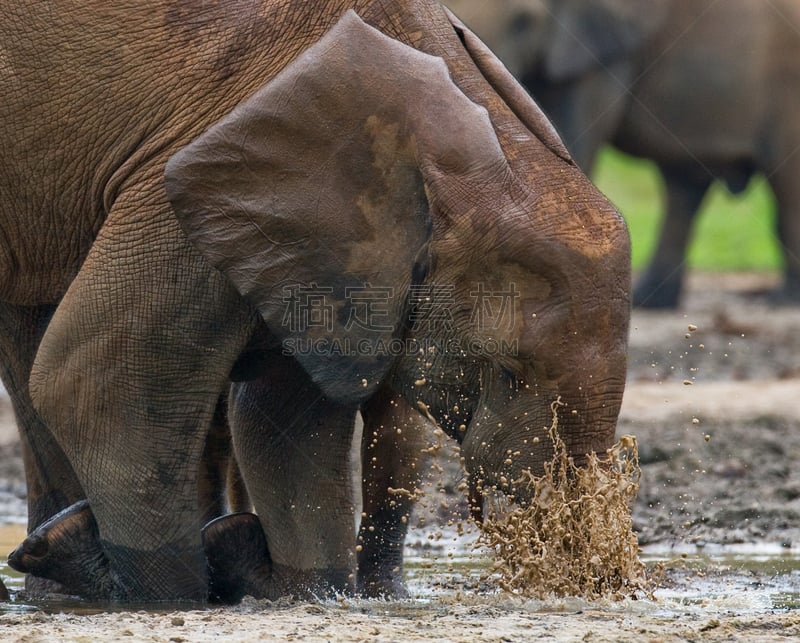
[[[636,305],[678,305],[709,185],[736,193],[758,171],[778,206],[785,281],[776,300],[800,300],[800,2],[446,4],[531,91],[582,168],[612,143],[661,169],[666,217]]]

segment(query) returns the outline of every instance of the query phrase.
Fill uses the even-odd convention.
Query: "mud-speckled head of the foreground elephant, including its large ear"
[[[612,442],[629,241],[472,32],[415,22],[441,11],[402,29],[348,11],[175,154],[166,186],[192,244],[326,396],[357,404],[388,382],[502,486],[541,470],[559,397],[577,459]]]

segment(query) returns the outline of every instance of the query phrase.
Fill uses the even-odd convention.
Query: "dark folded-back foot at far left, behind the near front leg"
[[[100,534],[86,500],[76,502],[34,529],[8,556],[18,572],[38,577],[26,581],[29,591],[56,589],[82,598],[106,599],[113,581]],[[43,579],[43,580],[41,580]],[[58,585],[52,585],[52,582]]]

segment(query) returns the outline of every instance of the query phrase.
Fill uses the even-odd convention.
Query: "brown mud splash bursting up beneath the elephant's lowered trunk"
[[[623,436],[578,467],[558,434],[560,406],[551,406],[552,460],[542,476],[517,483],[528,486],[530,504],[501,507],[483,524],[479,545],[496,558],[487,579],[526,598],[652,597],[631,515],[641,475],[636,438]]]

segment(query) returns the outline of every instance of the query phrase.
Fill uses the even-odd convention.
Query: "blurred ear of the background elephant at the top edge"
[[[544,72],[568,81],[630,56],[661,26],[665,0],[562,0],[553,3],[553,30]]]

